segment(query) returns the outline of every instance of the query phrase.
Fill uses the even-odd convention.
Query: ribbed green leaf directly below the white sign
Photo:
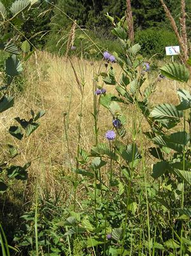
[[[188,82],[190,77],[188,68],[180,63],[169,63],[160,68],[162,75],[179,82]]]

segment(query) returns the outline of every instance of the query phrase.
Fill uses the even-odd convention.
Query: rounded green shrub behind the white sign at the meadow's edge
[[[160,59],[165,56],[166,46],[177,45],[178,43],[172,31],[157,27],[138,31],[135,41],[141,45],[141,54],[144,57],[151,57],[157,54]]]

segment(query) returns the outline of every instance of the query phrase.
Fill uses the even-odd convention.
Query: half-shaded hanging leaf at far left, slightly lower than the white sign
[[[10,77],[19,75],[22,72],[22,64],[20,63],[20,61],[18,61],[17,56],[15,54],[6,59],[5,71],[8,75],[10,75]]]

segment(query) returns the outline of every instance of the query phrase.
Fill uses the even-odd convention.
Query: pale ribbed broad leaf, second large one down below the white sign
[[[173,104],[161,104],[155,107],[150,116],[153,119],[180,119],[183,117],[183,112],[179,111]]]

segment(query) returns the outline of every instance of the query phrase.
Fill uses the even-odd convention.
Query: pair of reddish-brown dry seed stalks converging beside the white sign
[[[186,63],[188,59],[188,46],[187,46],[185,0],[181,0],[181,15],[182,15],[182,17],[180,18],[181,34],[178,32],[178,27],[176,26],[176,22],[173,16],[171,15],[171,12],[167,8],[166,4],[164,3],[163,0],[160,0],[160,2],[164,8],[167,18],[171,22],[171,26],[173,27],[174,33],[176,34],[176,38],[180,43],[180,47],[183,52],[183,55],[181,56],[181,60],[183,61],[183,63]]]

